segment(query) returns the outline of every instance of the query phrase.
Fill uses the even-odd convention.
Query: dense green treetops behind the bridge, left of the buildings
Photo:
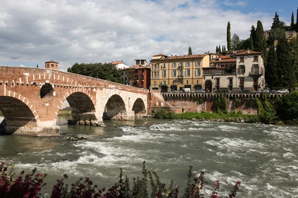
[[[123,83],[120,79],[120,71],[110,63],[75,63],[67,71],[115,83]]]

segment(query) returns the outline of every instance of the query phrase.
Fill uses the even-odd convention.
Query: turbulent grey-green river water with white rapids
[[[59,117],[61,137],[0,136],[0,157],[15,171],[38,168],[47,173],[43,194],[56,179],[67,183],[89,177],[99,187],[110,187],[120,168],[124,175],[142,175],[142,162],[162,182],[170,180],[184,192],[189,165],[205,171],[206,194],[220,180],[227,195],[240,180],[239,198],[298,198],[298,127],[195,120],[136,120],[112,122],[118,127],[68,126]],[[125,126],[133,124],[136,127]],[[70,142],[72,134],[87,140]]]

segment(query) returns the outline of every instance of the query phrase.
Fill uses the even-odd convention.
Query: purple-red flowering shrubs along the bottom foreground
[[[13,177],[13,165],[4,166],[4,162],[0,163],[0,198],[39,198],[41,188],[46,185],[43,183],[46,174],[36,174],[36,168],[32,170],[31,174],[23,178],[24,171],[16,179]],[[188,171],[188,182],[182,198],[205,198],[201,193],[204,189],[204,172],[202,171],[198,178],[194,178],[192,182],[193,173],[190,166]],[[173,181],[170,182],[167,188],[164,183],[159,180],[158,174],[154,171],[147,171],[145,168],[145,161],[143,162],[143,178],[139,177],[133,179],[133,186],[130,188],[128,177],[123,178],[122,169],[120,169],[119,181],[114,184],[107,191],[105,188],[99,189],[93,185],[92,181],[88,178],[78,180],[71,185],[70,190],[68,185],[64,185],[64,178],[57,180],[57,184],[53,187],[51,198],[178,198],[179,186],[174,185]],[[151,187],[149,195],[148,191],[148,178]],[[226,198],[235,198],[239,190],[240,182],[238,181],[233,190]],[[220,189],[220,181],[216,181],[214,191],[211,198],[218,198],[218,190]]]

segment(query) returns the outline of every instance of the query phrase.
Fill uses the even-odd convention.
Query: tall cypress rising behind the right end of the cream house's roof
[[[261,51],[264,58],[267,57],[267,43],[266,38],[264,36],[264,30],[263,25],[261,21],[257,22],[257,28],[256,28],[256,41],[254,46],[255,51]]]

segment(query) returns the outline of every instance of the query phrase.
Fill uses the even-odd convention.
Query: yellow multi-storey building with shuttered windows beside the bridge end
[[[209,54],[167,56],[154,55],[151,62],[151,89],[182,91],[190,88],[192,92],[202,89],[203,67],[209,67]]]

